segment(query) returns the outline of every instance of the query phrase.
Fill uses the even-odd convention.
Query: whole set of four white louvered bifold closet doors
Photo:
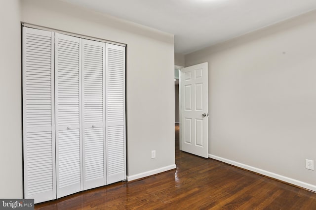
[[[125,47],[23,27],[24,195],[126,179]]]

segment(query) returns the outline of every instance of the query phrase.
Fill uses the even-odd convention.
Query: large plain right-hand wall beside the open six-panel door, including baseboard
[[[209,63],[209,153],[316,191],[316,11],[186,55]]]

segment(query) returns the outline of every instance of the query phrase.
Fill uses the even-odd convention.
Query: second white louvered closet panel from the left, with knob
[[[81,39],[55,34],[57,198],[82,190]]]

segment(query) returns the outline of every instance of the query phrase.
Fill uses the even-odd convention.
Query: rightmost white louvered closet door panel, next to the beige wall
[[[126,179],[125,47],[106,44],[107,183]]]

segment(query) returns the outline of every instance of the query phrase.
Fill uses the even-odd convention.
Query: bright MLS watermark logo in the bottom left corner
[[[34,199],[0,199],[0,210],[34,210]]]

